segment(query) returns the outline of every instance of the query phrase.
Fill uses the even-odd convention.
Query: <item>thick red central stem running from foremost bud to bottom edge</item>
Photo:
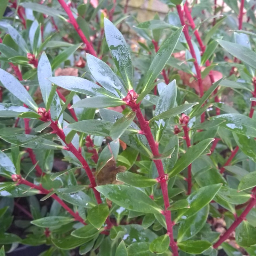
[[[135,109],[133,109],[133,110],[136,112],[136,116],[140,123],[141,130],[144,132],[144,134],[148,140],[148,144],[152,150],[153,155],[154,156],[159,155],[158,147],[156,146],[156,142],[151,133],[149,124],[145,120],[144,116],[141,113],[140,105],[137,104]],[[171,211],[167,210],[167,208],[170,206],[170,202],[169,202],[168,189],[167,189],[167,183],[166,183],[166,174],[164,173],[164,167],[163,167],[162,161],[161,160],[153,160],[153,161],[156,164],[157,172],[159,175],[157,180],[161,184],[161,189],[162,189],[162,194],[163,194],[163,199],[164,199],[164,209],[165,209],[163,214],[164,214],[165,221],[166,221],[167,234],[170,237],[170,246],[172,248],[173,256],[178,256],[179,255],[178,246],[177,246],[176,242],[174,241],[173,230],[172,230],[174,223],[172,223]]]

